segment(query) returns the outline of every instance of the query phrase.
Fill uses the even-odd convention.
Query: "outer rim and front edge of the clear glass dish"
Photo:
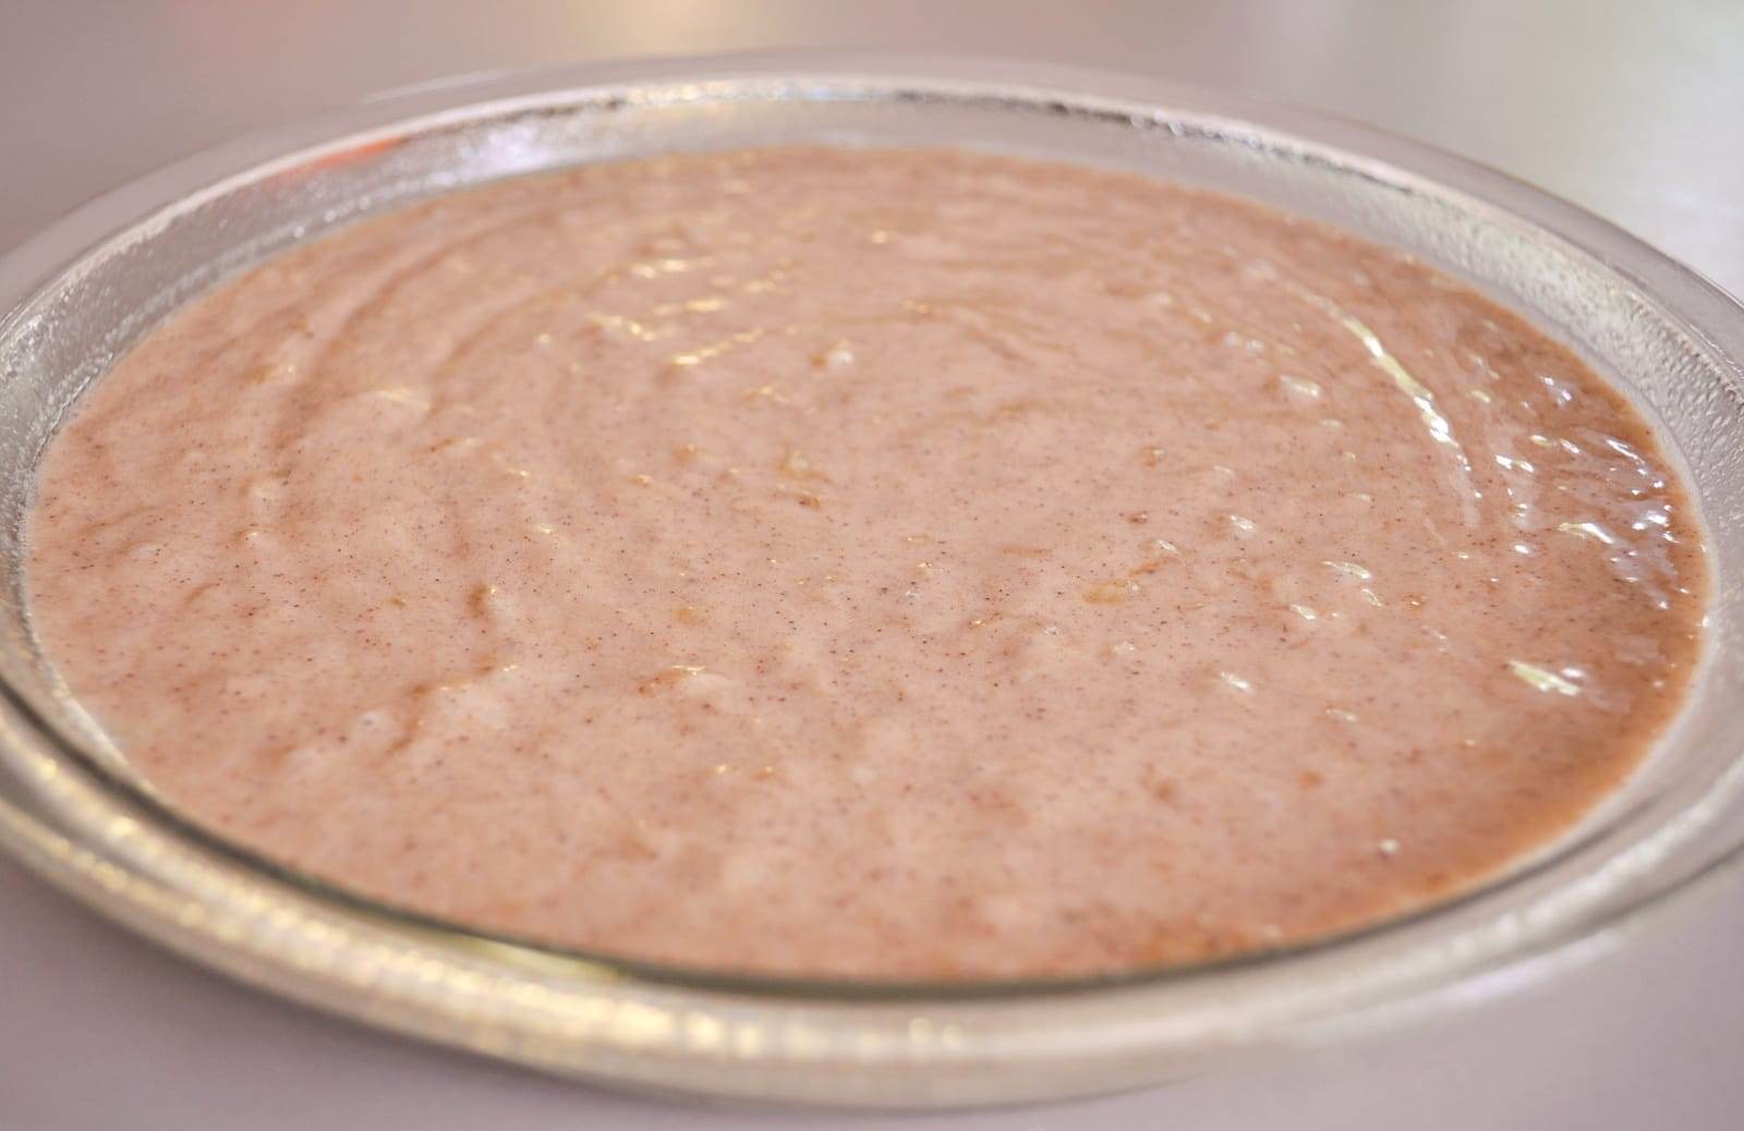
[[[1224,131],[1409,192],[1460,193],[1599,260],[1659,301],[1741,385],[1744,308],[1620,230],[1498,173],[1325,115],[1095,71],[919,56],[792,52],[467,77],[220,146],[101,197],[0,258],[0,340],[63,272],[145,239],[162,214],[234,181],[366,152],[516,106],[752,96],[999,99],[1055,113]],[[1718,584],[1718,579],[1716,579]],[[288,997],[506,1060],[645,1087],[797,1101],[954,1105],[1106,1091],[1240,1051],[1373,1030],[1470,1002],[1599,953],[1639,913],[1727,871],[1727,842],[1660,864],[1737,809],[1744,767],[1606,866],[1507,922],[1435,938],[1580,850],[1587,838],[1453,899],[1301,946],[1066,979],[823,981],[677,969],[494,936],[298,875],[188,824],[0,685],[0,845],[169,946]],[[1652,850],[1646,850],[1652,849]],[[1627,856],[1629,859],[1624,859]],[[1646,877],[1643,880],[1643,877]],[[1617,878],[1617,877],[1613,877]],[[1603,891],[1599,891],[1603,889]],[[1430,929],[1432,938],[1411,938]],[[1397,945],[1395,945],[1397,943]],[[1392,946],[1392,950],[1388,950]],[[1388,953],[1378,953],[1388,950]]]

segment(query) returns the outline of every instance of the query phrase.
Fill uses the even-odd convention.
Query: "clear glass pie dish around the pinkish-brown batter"
[[[821,983],[495,938],[291,873],[166,807],[56,680],[21,532],[78,392],[169,310],[361,214],[673,150],[961,145],[1198,183],[1404,247],[1580,350],[1653,420],[1714,566],[1700,681],[1578,828],[1461,897],[1336,939],[1120,978]],[[0,260],[0,843],[232,976],[588,1079],[734,1098],[959,1105],[1106,1091],[1329,1040],[1563,969],[1744,843],[1744,308],[1631,237],[1468,162],[1224,94],[1034,64],[762,56],[487,77],[241,141]],[[187,735],[201,742],[201,735]]]

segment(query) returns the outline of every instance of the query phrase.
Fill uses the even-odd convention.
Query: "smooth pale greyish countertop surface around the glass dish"
[[[1247,89],[1536,181],[1744,291],[1744,3],[0,0],[0,247],[195,148],[504,66],[794,45]],[[234,986],[0,861],[0,1128],[1744,1128],[1744,889],[1521,997],[1170,1087],[957,1115],[708,1110],[420,1047]]]

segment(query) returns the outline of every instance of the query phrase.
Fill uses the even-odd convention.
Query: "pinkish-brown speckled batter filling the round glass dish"
[[[1350,929],[1679,706],[1646,425],[1425,267],[949,152],[602,166],[373,220],[52,446],[37,631],[197,821],[603,952],[1069,974]]]

